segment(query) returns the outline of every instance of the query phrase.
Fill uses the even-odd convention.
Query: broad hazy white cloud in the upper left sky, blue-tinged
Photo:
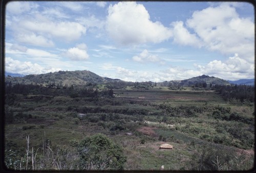
[[[56,19],[59,16],[56,17],[53,14],[51,16],[54,17],[51,18],[49,14],[30,13],[31,15],[8,17],[7,31],[11,31],[10,33],[15,41],[19,43],[53,47],[55,38],[69,42],[77,40],[83,34],[86,34],[86,27],[75,21],[59,21],[59,19]]]

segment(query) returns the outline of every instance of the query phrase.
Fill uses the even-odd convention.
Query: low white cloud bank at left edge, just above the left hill
[[[5,58],[5,71],[10,73],[19,73],[19,74],[42,74],[42,73],[49,73],[49,72],[57,72],[61,69],[59,68],[45,68],[40,66],[37,63],[32,63],[30,61],[19,61],[14,60],[10,57]]]

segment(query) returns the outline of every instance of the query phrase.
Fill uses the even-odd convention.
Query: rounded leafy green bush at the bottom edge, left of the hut
[[[80,169],[123,169],[126,158],[121,146],[102,134],[83,139],[78,146]]]

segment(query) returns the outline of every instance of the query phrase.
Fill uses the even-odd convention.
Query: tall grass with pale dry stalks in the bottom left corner
[[[5,164],[14,170],[78,170],[79,154],[73,147],[51,146],[49,140],[42,138],[42,146],[36,150],[30,146],[26,137],[27,148],[24,157],[15,158],[16,154],[6,152]]]

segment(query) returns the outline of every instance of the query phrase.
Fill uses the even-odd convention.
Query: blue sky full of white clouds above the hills
[[[249,3],[11,2],[5,71],[126,81],[254,78]]]

